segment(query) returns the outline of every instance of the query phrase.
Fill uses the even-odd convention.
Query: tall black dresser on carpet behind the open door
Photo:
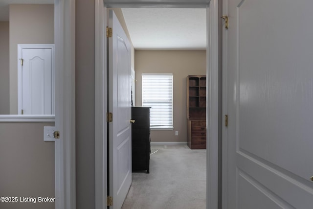
[[[150,165],[150,107],[132,107],[133,171],[146,170]]]

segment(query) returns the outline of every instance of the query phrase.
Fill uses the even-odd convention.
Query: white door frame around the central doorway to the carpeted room
[[[207,14],[207,159],[206,159],[206,208],[218,208],[218,0],[159,1],[132,0],[118,3],[118,0],[95,0],[95,208],[104,209],[107,205],[107,38],[106,7],[181,7],[206,8]]]

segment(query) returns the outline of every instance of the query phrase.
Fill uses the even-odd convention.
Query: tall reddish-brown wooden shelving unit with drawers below
[[[187,144],[191,149],[206,148],[206,76],[187,77]]]

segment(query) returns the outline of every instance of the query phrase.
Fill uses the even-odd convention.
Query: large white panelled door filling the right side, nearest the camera
[[[313,1],[224,0],[224,5],[229,16],[229,29],[223,29],[224,206],[312,209],[313,27],[306,20]]]

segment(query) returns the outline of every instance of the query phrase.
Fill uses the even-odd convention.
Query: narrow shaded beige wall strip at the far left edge
[[[9,22],[0,22],[0,115],[10,114]]]

